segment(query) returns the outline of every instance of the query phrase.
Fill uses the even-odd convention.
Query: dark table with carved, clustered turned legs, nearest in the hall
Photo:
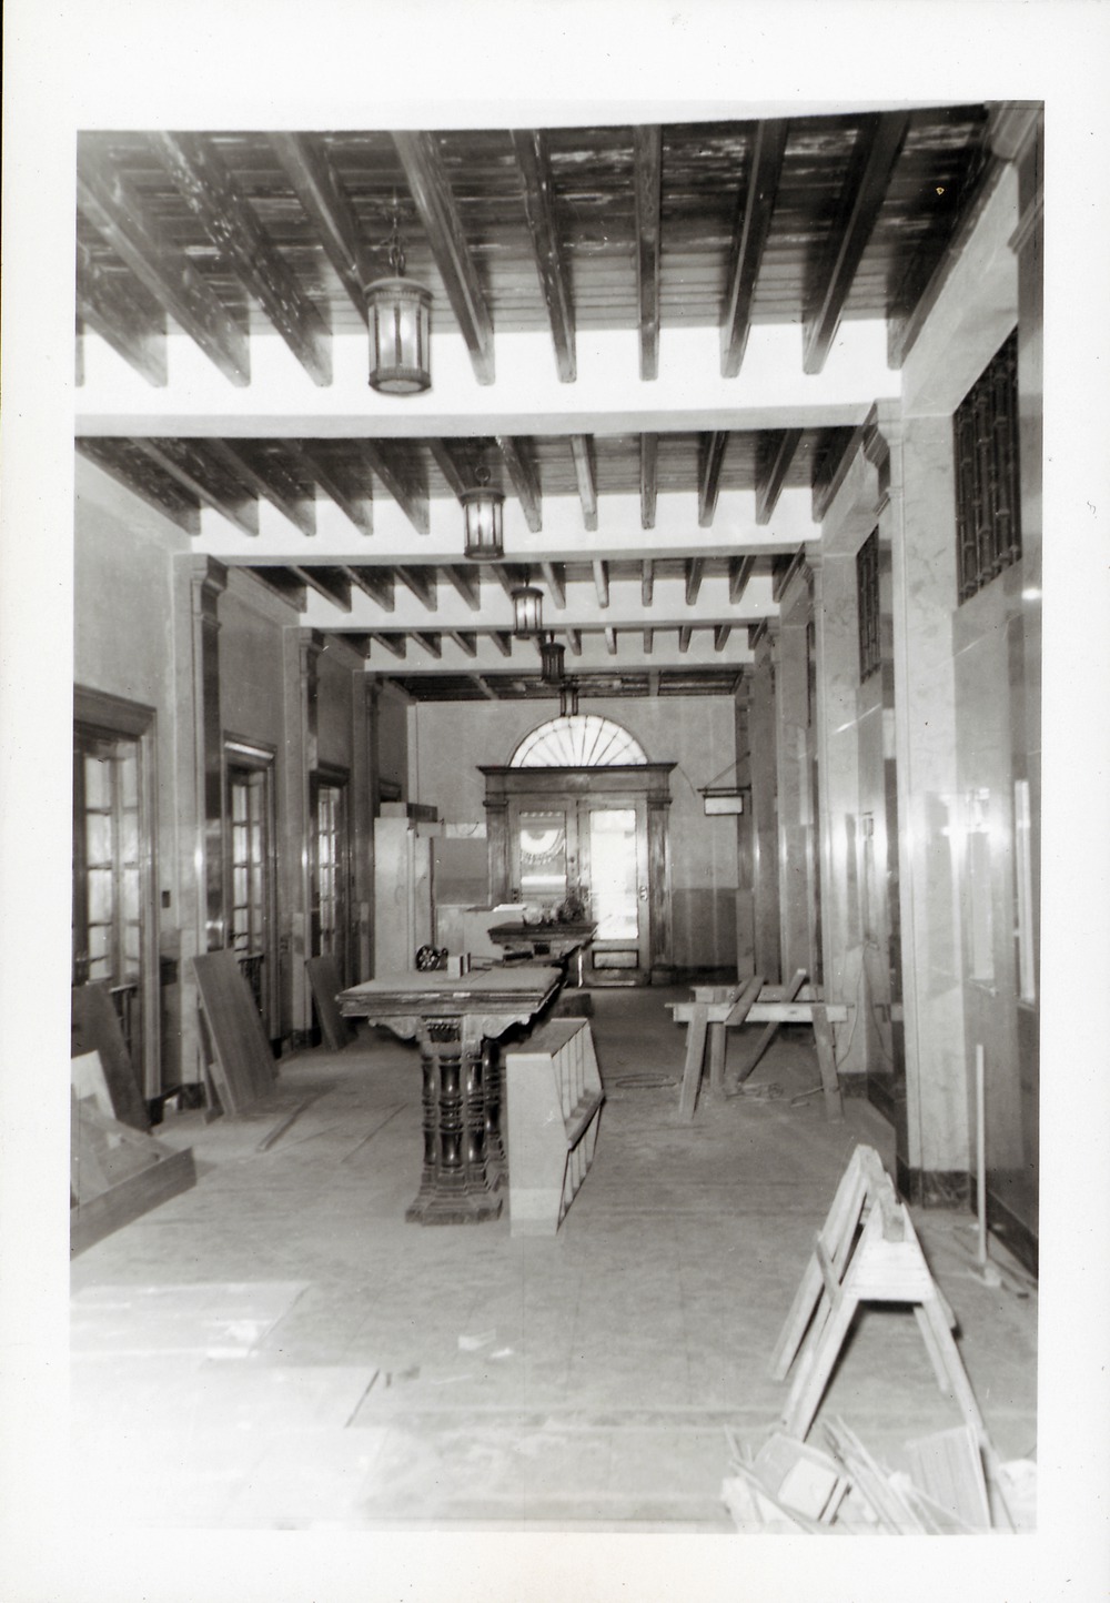
[[[497,1042],[529,1024],[559,991],[557,968],[439,970],[381,975],[338,995],[340,1011],[416,1040],[423,1071],[424,1156],[405,1210],[418,1225],[497,1218],[506,1177]]]

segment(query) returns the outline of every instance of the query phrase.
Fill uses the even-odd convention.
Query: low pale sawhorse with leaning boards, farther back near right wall
[[[694,1117],[706,1047],[710,1092],[714,1096],[730,1095],[726,1090],[727,1031],[743,1024],[762,1024],[764,1031],[737,1072],[737,1085],[742,1085],[756,1068],[780,1024],[812,1024],[825,1093],[825,1116],[830,1120],[843,1116],[831,1026],[847,1021],[847,1007],[822,1002],[812,986],[804,981],[802,970],[798,970],[785,986],[764,986],[762,978],[756,975],[743,986],[694,986],[689,1002],[668,1002],[674,1023],[687,1026],[686,1064],[679,1095],[682,1117]]]

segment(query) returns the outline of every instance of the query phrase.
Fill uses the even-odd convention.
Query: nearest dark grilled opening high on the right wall
[[[1022,555],[1017,454],[1017,333],[956,409],[956,555],[959,600]]]

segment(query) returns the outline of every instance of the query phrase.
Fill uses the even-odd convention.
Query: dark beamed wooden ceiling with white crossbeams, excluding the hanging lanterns
[[[408,694],[549,696],[522,580],[580,694],[730,692],[1001,115],[83,135],[78,450]],[[367,385],[394,202],[412,398]],[[463,555],[481,468],[500,563]]]

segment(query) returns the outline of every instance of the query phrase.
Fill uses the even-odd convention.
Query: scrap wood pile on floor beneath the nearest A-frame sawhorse
[[[974,1536],[1014,1529],[1012,1502],[1032,1467],[1004,1465],[1009,1502],[991,1499],[969,1425],[907,1443],[908,1470],[879,1464],[844,1420],[826,1422],[822,1435],[823,1449],[775,1430],[751,1451],[729,1433],[721,1496],[738,1531]]]

